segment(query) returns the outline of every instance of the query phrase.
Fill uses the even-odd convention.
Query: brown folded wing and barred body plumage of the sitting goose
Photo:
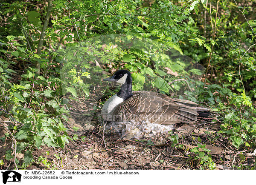
[[[170,98],[150,91],[134,91],[132,98],[117,105],[111,115],[113,121],[148,121],[171,125],[197,119],[195,102]]]

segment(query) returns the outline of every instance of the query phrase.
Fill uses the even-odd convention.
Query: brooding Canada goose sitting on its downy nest
[[[122,84],[120,91],[110,97],[102,107],[102,118],[109,122],[151,122],[172,125],[192,122],[197,117],[209,116],[209,109],[198,107],[189,100],[180,100],[151,91],[132,91],[131,73],[119,70],[103,81]]]

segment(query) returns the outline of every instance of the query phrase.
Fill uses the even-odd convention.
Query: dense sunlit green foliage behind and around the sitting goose
[[[220,1],[217,17],[217,2],[210,6],[206,0],[52,3],[41,54],[36,51],[47,14],[45,3],[1,3],[0,108],[6,111],[1,115],[19,122],[8,128],[17,139],[17,152],[25,155],[19,163],[22,168],[35,161],[35,148],[63,148],[71,139],[64,126],[68,98],[89,97],[106,72],[121,68],[132,72],[133,90],[206,102],[221,120],[219,134],[237,149],[255,148],[256,6],[252,0],[240,1],[244,7]],[[210,75],[202,89],[204,71],[195,62],[207,67],[209,57]],[[110,96],[108,90],[102,92]],[[173,146],[178,144],[177,136],[170,139]],[[202,151],[196,151],[199,148]],[[203,145],[191,152],[200,168],[215,168]],[[7,151],[5,160],[12,159],[12,151]],[[40,162],[52,168],[43,157]]]

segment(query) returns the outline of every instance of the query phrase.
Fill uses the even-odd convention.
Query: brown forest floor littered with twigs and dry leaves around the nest
[[[209,160],[198,159],[198,153],[191,151],[198,144],[206,144],[205,148],[211,150],[209,154],[216,164],[215,169],[233,169],[233,165],[250,166],[255,162],[250,156],[253,151],[238,151],[227,138],[218,134],[221,122],[214,115],[198,122],[175,125],[170,134],[154,137],[145,134],[143,139],[124,139],[118,134],[102,134],[105,132],[97,116],[100,110],[88,109],[93,103],[84,99],[70,103],[72,118],[66,127],[73,140],[65,148],[42,146],[35,150],[35,162],[27,169],[204,169],[207,164],[205,168],[208,169]],[[74,126],[79,130],[74,131]],[[176,134],[179,139],[174,147],[171,136]],[[4,145],[8,145],[7,142]],[[2,159],[3,154],[4,151],[0,151]],[[248,157],[242,160],[239,154]],[[23,157],[23,154],[17,154],[17,159]],[[4,162],[3,166],[10,165],[6,160]],[[9,166],[13,167],[12,164]]]

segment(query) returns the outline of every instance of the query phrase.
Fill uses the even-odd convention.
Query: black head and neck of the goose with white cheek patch
[[[123,100],[127,100],[129,97],[133,95],[131,73],[127,70],[122,69],[116,71],[112,77],[103,79],[103,81],[110,81],[121,84],[122,86],[116,95],[122,98]]]

